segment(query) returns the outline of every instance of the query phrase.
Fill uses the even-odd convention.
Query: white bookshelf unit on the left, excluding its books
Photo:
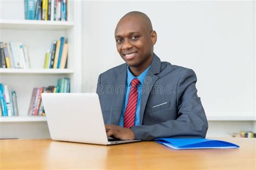
[[[60,22],[24,20],[23,1],[0,2],[1,10],[4,10],[0,15],[0,41],[22,42],[28,48],[31,62],[30,69],[0,68],[0,82],[16,91],[19,111],[19,116],[0,117],[0,138],[50,137],[46,117],[28,116],[34,87],[57,86],[57,79],[69,77],[70,92],[81,91],[80,3],[82,2],[69,1],[69,21]],[[12,11],[5,10],[10,6]],[[44,69],[46,52],[50,49],[52,41],[59,40],[62,36],[68,39],[69,44],[67,69]]]

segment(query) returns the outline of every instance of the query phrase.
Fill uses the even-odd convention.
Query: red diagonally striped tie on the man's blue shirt
[[[124,128],[130,128],[131,126],[134,126],[134,118],[138,101],[137,86],[139,84],[139,80],[133,79],[131,83],[132,87],[129,94],[128,103],[124,112]]]

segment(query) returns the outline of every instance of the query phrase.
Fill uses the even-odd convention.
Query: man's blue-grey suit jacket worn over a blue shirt
[[[126,76],[126,63],[99,75],[97,94],[105,124],[119,124]],[[132,127],[135,138],[204,138],[208,123],[196,82],[192,69],[161,62],[154,54],[143,84],[140,126]]]

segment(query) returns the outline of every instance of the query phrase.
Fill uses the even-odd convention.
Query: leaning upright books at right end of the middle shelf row
[[[68,43],[64,37],[53,41],[51,50],[45,55],[44,68],[66,68],[68,60]]]

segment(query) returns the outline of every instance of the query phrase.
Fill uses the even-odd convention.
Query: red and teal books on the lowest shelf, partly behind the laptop
[[[70,93],[70,78],[58,79],[56,87],[33,88],[28,115],[45,116],[42,93]]]

